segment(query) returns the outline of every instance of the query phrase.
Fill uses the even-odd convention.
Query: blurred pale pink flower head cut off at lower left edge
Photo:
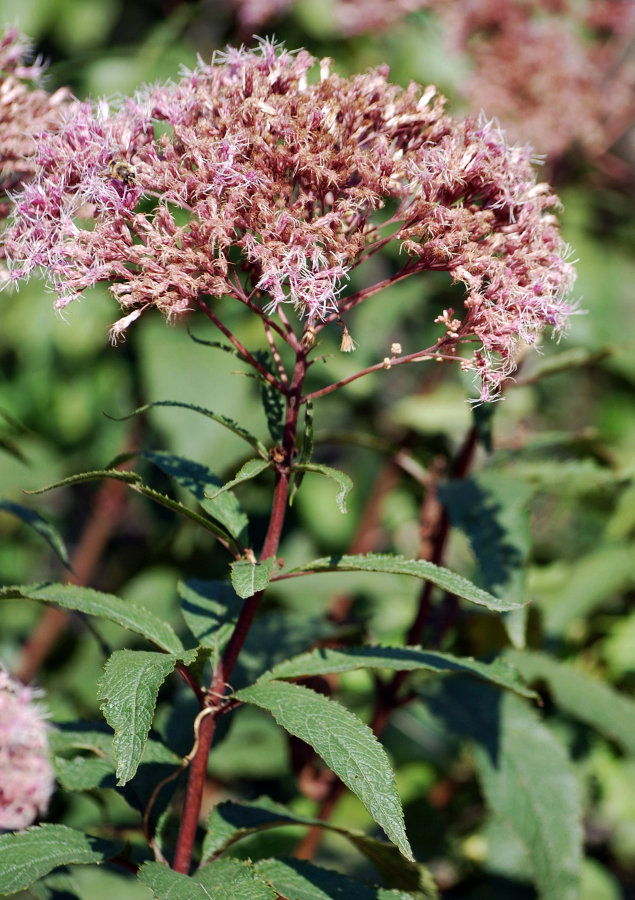
[[[0,830],[26,828],[53,792],[46,722],[37,693],[0,669]]]

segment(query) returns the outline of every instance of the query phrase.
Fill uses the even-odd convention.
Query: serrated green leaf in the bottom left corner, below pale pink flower
[[[119,850],[117,844],[65,825],[36,825],[0,836],[0,894],[14,894],[58,866],[101,863]]]

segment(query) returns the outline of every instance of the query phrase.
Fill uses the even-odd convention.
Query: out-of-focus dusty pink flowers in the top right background
[[[292,0],[233,0],[251,34]],[[333,0],[333,32],[384,31],[409,13],[438,16],[448,46],[469,62],[457,85],[470,108],[516,139],[560,156],[606,151],[633,123],[632,0]]]

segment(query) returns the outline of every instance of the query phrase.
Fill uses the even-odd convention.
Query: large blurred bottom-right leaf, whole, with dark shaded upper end
[[[582,810],[560,741],[513,694],[465,678],[434,688],[426,709],[472,742],[487,805],[522,844],[541,900],[578,900]]]

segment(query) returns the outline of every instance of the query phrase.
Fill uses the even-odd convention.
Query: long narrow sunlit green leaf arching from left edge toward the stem
[[[172,626],[132,600],[122,600],[113,594],[102,594],[74,584],[16,585],[0,589],[0,599],[14,598],[57,603],[64,609],[99,616],[140,634],[168,653],[182,654],[183,658],[187,655]]]

